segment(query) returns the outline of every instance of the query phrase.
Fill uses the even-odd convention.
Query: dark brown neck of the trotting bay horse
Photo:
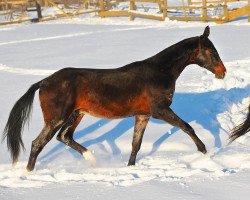
[[[171,74],[177,79],[186,66],[193,64],[191,58],[197,47],[197,38],[189,38],[168,47],[151,59],[154,60],[160,71]]]

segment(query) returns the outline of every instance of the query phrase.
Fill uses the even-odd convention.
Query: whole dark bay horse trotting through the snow
[[[39,89],[44,128],[32,141],[27,170],[32,171],[38,154],[53,138],[73,148],[89,160],[95,159],[87,148],[73,139],[74,131],[85,114],[100,118],[135,117],[132,152],[128,165],[134,165],[150,117],[163,120],[187,133],[198,150],[206,147],[193,128],[170,108],[175,84],[186,66],[197,64],[225,76],[226,68],[213,43],[207,26],[201,36],[182,40],[156,55],[116,69],[64,68],[33,84],[12,108],[4,129],[13,164],[21,147],[21,134],[29,120],[36,90]]]

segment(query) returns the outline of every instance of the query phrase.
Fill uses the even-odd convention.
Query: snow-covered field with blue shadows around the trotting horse
[[[64,67],[115,68],[152,56],[207,24],[127,18],[83,18],[0,27],[0,127],[28,87]],[[228,145],[228,132],[246,116],[250,98],[250,23],[209,24],[210,39],[227,68],[215,79],[192,65],[177,81],[172,109],[205,143],[203,155],[181,130],[151,119],[137,157],[127,167],[134,118],[83,118],[75,139],[94,151],[97,167],[55,138],[26,174],[32,140],[43,126],[36,94],[26,151],[12,168],[0,145],[0,199],[247,200],[250,135]]]

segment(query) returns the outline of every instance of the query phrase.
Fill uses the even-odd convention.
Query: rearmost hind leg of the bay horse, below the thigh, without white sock
[[[29,162],[26,167],[28,171],[32,171],[35,167],[36,159],[44,146],[53,138],[55,133],[61,127],[61,122],[52,121],[44,126],[38,137],[32,141]]]

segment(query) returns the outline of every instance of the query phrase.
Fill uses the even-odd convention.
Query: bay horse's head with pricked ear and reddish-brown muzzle
[[[208,39],[209,33],[210,28],[207,26],[203,35],[199,37],[199,47],[195,62],[199,66],[214,73],[216,78],[223,79],[225,77],[226,68],[213,43]]]

